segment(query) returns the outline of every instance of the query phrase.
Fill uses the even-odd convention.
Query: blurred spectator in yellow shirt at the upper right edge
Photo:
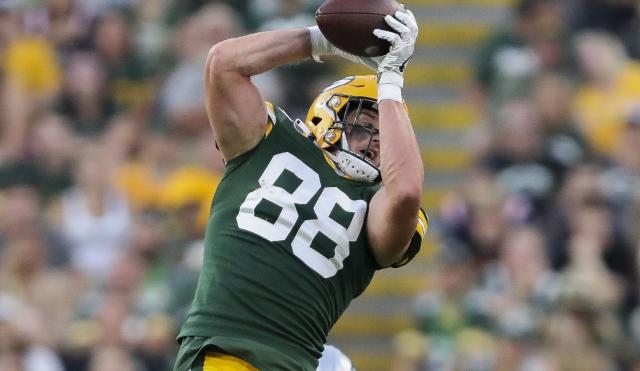
[[[627,116],[640,107],[640,64],[630,61],[620,41],[600,32],[576,38],[585,77],[575,100],[580,129],[594,151],[614,154]]]

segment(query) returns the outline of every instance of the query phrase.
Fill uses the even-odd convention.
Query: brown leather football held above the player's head
[[[402,10],[395,0],[327,0],[316,11],[316,23],[333,45],[361,57],[376,57],[389,51],[389,43],[373,30],[393,31],[384,17]]]

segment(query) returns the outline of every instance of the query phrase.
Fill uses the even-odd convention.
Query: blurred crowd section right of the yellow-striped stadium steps
[[[515,3],[393,369],[640,370],[640,2]]]

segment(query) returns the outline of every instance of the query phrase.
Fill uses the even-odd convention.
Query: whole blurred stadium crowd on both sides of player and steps
[[[640,370],[640,5],[515,3],[392,369]],[[170,369],[223,168],[206,54],[317,5],[0,1],[0,370]],[[302,117],[335,68],[255,81]]]

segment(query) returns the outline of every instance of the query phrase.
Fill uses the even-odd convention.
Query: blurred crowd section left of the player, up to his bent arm
[[[171,369],[223,168],[207,53],[317,5],[0,0],[0,370]],[[299,115],[330,74],[255,82]]]

